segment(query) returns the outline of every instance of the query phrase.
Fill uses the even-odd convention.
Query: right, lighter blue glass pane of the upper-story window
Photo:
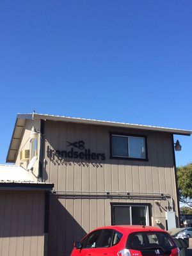
[[[145,158],[144,138],[129,137],[129,157]]]

